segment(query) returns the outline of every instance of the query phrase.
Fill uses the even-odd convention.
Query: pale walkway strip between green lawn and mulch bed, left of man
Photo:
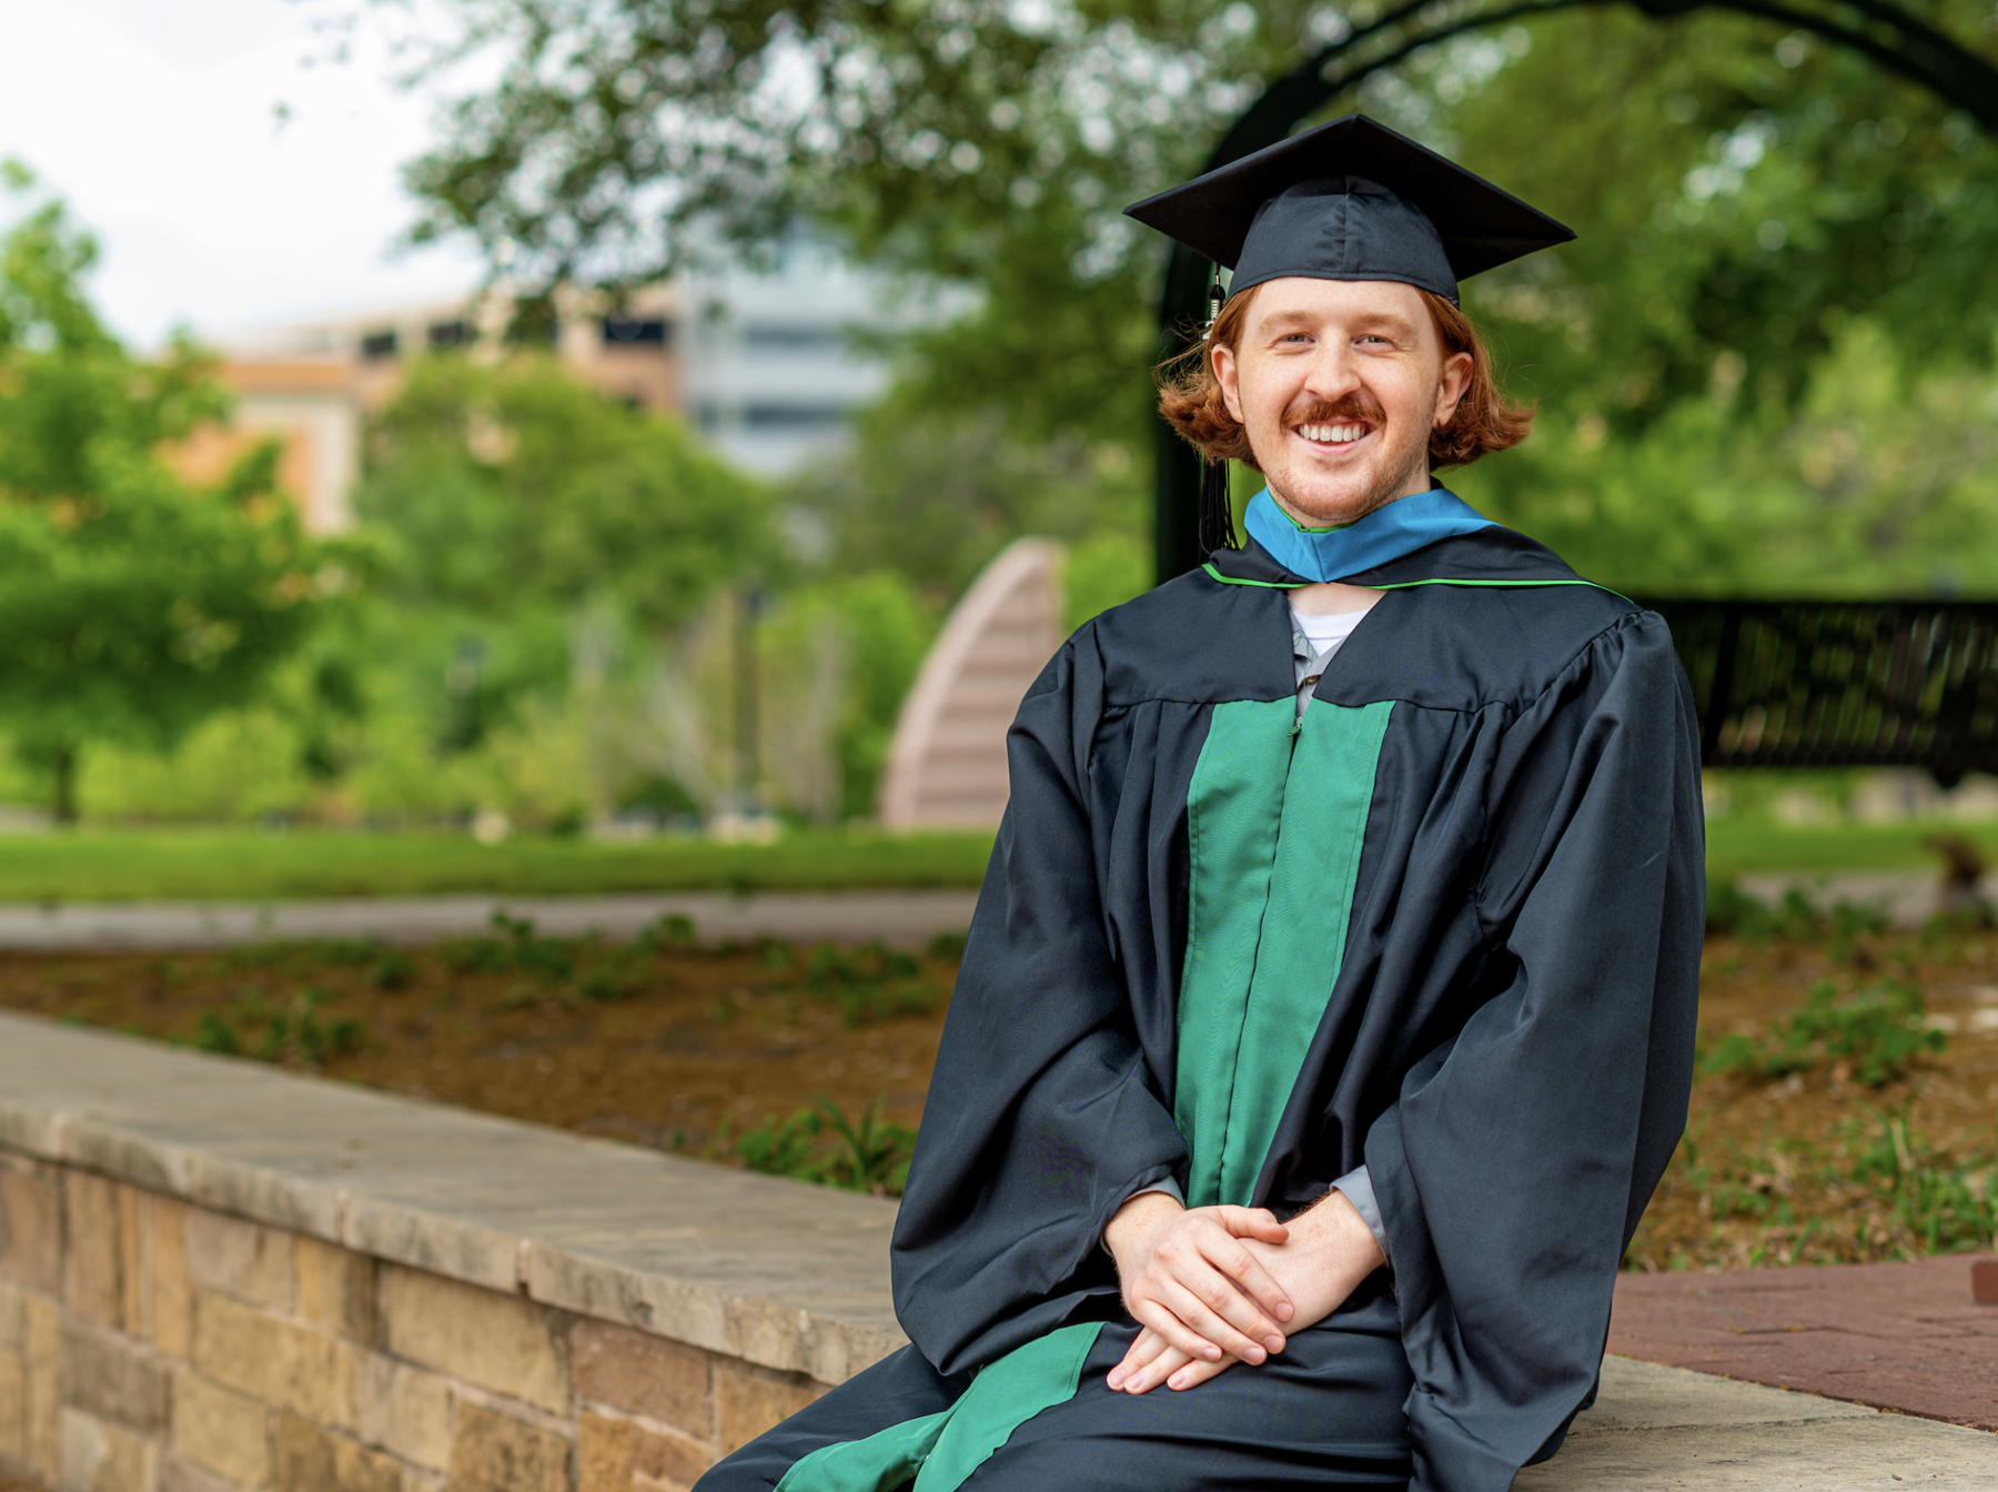
[[[272,939],[436,943],[492,931],[494,913],[553,937],[631,939],[685,917],[703,943],[921,945],[971,927],[977,891],[683,891],[609,897],[348,897],[340,901],[140,901],[24,907],[0,903],[0,951],[106,953],[218,949]]]

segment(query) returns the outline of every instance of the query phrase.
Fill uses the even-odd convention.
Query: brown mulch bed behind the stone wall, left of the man
[[[817,973],[813,957],[555,939],[4,957],[0,1007],[210,1051],[226,1027],[244,1055],[693,1154],[819,1095],[913,1126],[955,949],[827,951]]]

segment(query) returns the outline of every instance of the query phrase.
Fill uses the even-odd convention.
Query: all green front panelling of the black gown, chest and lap
[[[1215,707],[1187,793],[1193,899],[1179,983],[1173,1120],[1189,1206],[1247,1204],[1347,949],[1393,701]],[[971,1380],[951,1408],[801,1456],[775,1492],[957,1492],[1011,1434],[1075,1398],[1099,1322],[1061,1326]]]

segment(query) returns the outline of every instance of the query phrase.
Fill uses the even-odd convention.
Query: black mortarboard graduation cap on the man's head
[[[1295,134],[1125,214],[1235,270],[1231,296],[1303,276],[1401,280],[1457,302],[1459,280],[1574,238],[1365,114]]]

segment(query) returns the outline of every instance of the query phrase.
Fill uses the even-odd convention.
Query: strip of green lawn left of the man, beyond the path
[[[406,897],[444,891],[975,887],[991,835],[793,833],[775,845],[242,829],[82,829],[0,839],[0,901]]]

